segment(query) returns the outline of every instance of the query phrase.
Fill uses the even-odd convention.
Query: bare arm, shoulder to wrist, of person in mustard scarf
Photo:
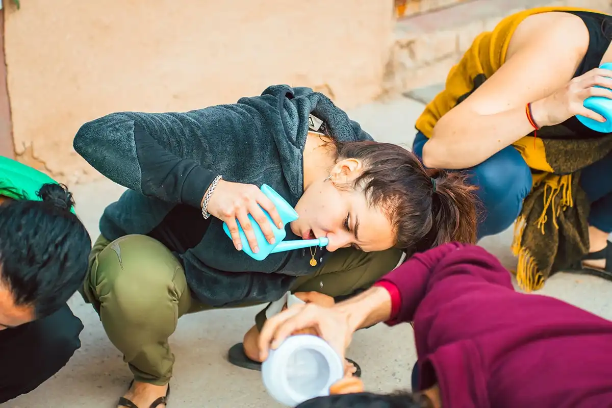
[[[529,102],[536,123],[550,125],[550,103],[543,99],[571,80],[588,43],[576,16],[527,18],[510,41],[504,65],[438,121],[423,149],[425,165],[463,169],[487,160],[534,130],[525,114]]]

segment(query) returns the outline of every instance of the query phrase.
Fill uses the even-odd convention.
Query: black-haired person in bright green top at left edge
[[[0,156],[0,403],[34,390],[81,346],[67,300],[83,284],[91,239],[72,194]]]

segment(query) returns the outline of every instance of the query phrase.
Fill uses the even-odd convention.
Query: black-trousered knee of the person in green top
[[[68,305],[34,322],[3,333],[0,403],[29,393],[58,373],[81,347],[83,324]],[[6,355],[4,353],[6,351]]]

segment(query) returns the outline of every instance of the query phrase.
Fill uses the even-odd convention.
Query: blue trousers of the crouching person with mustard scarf
[[[427,136],[418,132],[412,144],[418,157],[423,157],[426,142]],[[478,187],[476,195],[485,212],[478,226],[479,239],[499,234],[521,212],[523,199],[531,191],[531,169],[518,150],[508,146],[466,171],[469,183]],[[584,168],[580,177],[580,186],[591,201],[589,224],[604,232],[612,232],[611,175],[612,153]]]

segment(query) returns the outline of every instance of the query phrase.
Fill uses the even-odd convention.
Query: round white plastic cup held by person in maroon
[[[285,339],[261,365],[264,387],[276,401],[295,407],[318,396],[344,376],[340,355],[327,342],[312,335]]]

